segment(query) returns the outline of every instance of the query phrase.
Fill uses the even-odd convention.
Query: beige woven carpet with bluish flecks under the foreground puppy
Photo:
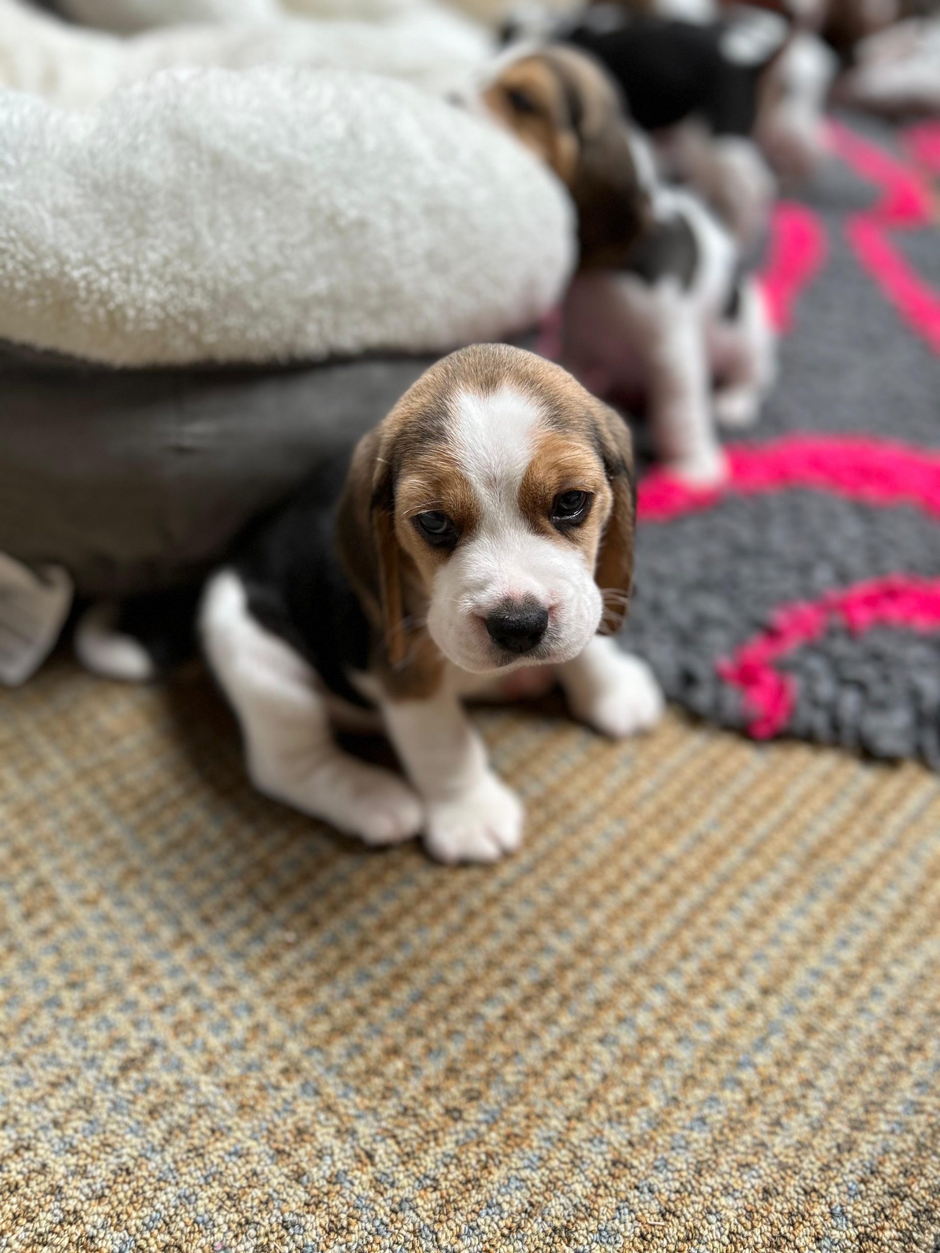
[[[206,679],[0,699],[0,1249],[940,1249],[940,781],[481,712],[524,852],[256,797]]]

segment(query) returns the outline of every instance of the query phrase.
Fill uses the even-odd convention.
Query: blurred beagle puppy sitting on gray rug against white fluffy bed
[[[674,472],[719,480],[716,420],[755,421],[776,372],[767,311],[737,243],[693,193],[661,182],[615,86],[583,53],[505,58],[484,99],[578,208],[583,251],[561,362],[597,396],[645,401],[657,455]]]

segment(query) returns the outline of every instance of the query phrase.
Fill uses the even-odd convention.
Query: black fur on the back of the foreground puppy
[[[350,455],[327,461],[257,524],[233,565],[262,626],[310,662],[331,692],[367,705],[348,675],[367,668],[371,633],[336,545]]]

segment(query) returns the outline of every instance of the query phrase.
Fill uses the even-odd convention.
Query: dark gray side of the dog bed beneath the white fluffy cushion
[[[431,360],[108,370],[0,345],[0,553],[93,596],[198,579]]]

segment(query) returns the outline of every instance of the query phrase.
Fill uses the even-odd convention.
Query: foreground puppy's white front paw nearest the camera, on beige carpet
[[[523,806],[491,771],[452,801],[427,807],[429,853],[442,862],[494,862],[523,838]]]

